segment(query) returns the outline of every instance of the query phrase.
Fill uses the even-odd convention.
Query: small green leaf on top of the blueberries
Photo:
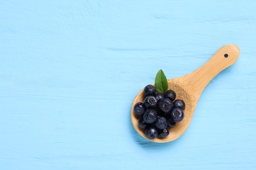
[[[160,93],[165,93],[168,90],[168,81],[165,73],[163,73],[161,69],[156,74],[155,87],[156,90]]]

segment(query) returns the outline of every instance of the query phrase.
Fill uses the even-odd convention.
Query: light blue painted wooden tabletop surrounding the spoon
[[[255,1],[0,1],[0,169],[256,169]],[[142,139],[131,103],[240,58],[202,93],[172,143]]]

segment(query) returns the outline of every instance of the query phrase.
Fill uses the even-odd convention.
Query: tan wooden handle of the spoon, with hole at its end
[[[205,64],[196,71],[181,77],[189,84],[191,92],[200,97],[205,86],[221,71],[236,62],[240,50],[236,44],[222,46]]]

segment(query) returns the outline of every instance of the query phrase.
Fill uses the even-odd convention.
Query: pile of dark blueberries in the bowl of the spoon
[[[165,94],[156,92],[156,88],[148,85],[144,88],[144,103],[136,103],[134,112],[139,118],[139,127],[145,129],[148,139],[167,137],[169,128],[184,118],[185,103],[176,98],[173,90]]]

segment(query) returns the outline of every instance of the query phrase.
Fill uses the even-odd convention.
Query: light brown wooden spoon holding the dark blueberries
[[[236,44],[222,46],[211,59],[199,69],[196,69],[188,75],[168,80],[169,89],[176,92],[176,99],[182,99],[186,103],[186,109],[184,110],[184,119],[170,129],[170,134],[167,137],[163,139],[158,137],[156,139],[148,139],[144,134],[144,129],[140,129],[138,126],[138,117],[135,115],[133,107],[137,102],[144,101],[143,89],[140,90],[135,97],[131,106],[131,122],[133,123],[133,127],[135,127],[136,131],[142,137],[156,143],[167,143],[180,137],[184,131],[186,131],[192,120],[196,104],[205,86],[207,86],[211,79],[226,69],[226,67],[234,64],[239,54],[240,50]]]

